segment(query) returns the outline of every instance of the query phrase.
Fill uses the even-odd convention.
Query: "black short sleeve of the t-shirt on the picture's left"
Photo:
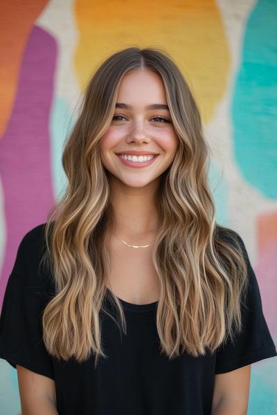
[[[30,238],[34,238],[34,234],[27,234],[21,240],[6,285],[0,316],[0,358],[15,368],[20,365],[55,379],[53,361],[42,340],[41,318],[47,295],[39,282],[34,284],[38,281],[34,271],[35,261],[26,267],[26,255],[29,262],[30,255],[36,255],[34,250],[29,252],[32,245]],[[35,241],[32,240],[32,243]]]

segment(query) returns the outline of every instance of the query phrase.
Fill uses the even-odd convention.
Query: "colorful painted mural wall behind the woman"
[[[127,46],[175,59],[199,104],[217,221],[247,246],[277,340],[277,2],[2,0],[0,308],[21,237],[66,185],[62,145],[96,66]],[[249,414],[277,414],[277,360],[252,365]],[[19,414],[0,359],[1,414]]]

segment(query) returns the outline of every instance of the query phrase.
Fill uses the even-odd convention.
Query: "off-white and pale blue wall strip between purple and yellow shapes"
[[[73,0],[51,0],[35,24],[46,30],[57,43],[53,102],[49,129],[51,134],[51,172],[55,200],[60,199],[67,179],[62,169],[62,148],[68,137],[71,117],[76,118],[82,102],[73,57],[78,47],[78,28],[74,17]],[[61,102],[66,103],[60,107]],[[62,113],[59,111],[62,110]],[[65,112],[64,112],[65,111]],[[58,120],[57,120],[58,117]]]

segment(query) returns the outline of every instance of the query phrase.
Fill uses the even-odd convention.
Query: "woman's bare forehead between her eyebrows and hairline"
[[[166,90],[161,75],[149,69],[134,69],[120,82],[117,102],[133,106],[150,103],[166,104]]]

